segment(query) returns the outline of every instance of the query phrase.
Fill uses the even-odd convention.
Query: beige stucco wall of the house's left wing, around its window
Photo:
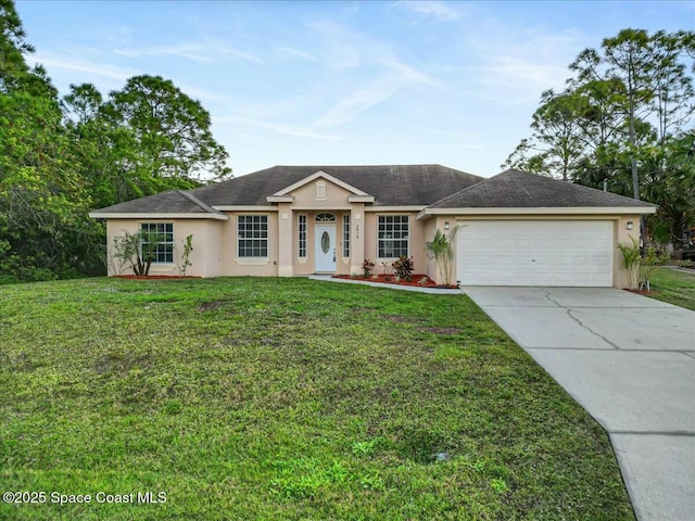
[[[141,223],[173,223],[174,224],[174,263],[152,264],[150,275],[181,275],[184,240],[193,236],[193,251],[189,260],[191,266],[186,270],[187,276],[216,277],[219,272],[219,244],[222,243],[220,220],[213,219],[109,219],[106,221],[108,268],[109,276],[132,275],[128,264],[121,264],[114,257],[113,240],[123,236],[125,231],[137,233]]]

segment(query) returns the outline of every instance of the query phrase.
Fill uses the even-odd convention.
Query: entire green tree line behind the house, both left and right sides
[[[0,0],[0,283],[104,274],[89,211],[231,175],[208,112],[170,80],[60,96],[33,52]],[[695,225],[694,56],[691,31],[626,29],[581,52],[504,166],[656,203],[650,240],[678,244]]]

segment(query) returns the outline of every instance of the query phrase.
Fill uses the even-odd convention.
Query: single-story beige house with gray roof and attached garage
[[[189,191],[97,209],[108,244],[160,233],[150,275],[362,274],[365,258],[413,256],[442,281],[425,244],[460,226],[454,280],[482,285],[624,287],[619,243],[656,206],[509,169],[482,178],[440,165],[274,166]],[[110,252],[109,275],[124,274]]]

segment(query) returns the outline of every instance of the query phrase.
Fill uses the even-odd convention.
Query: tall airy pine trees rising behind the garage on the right
[[[660,205],[649,218],[658,240],[673,239],[687,220],[692,169],[675,145],[695,112],[695,34],[623,29],[570,64],[560,94],[544,92],[533,135],[507,160],[553,175]],[[690,66],[688,66],[690,65]],[[644,219],[641,226],[646,242]]]

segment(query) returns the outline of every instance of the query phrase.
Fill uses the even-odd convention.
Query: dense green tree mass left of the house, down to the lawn
[[[170,80],[61,97],[31,52],[0,0],[0,283],[105,274],[104,225],[89,211],[230,176],[210,114]]]

